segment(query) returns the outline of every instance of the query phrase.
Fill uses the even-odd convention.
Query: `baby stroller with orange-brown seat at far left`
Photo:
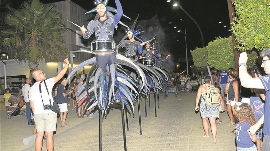
[[[17,116],[21,112],[21,108],[25,103],[23,99],[18,95],[11,96],[8,102],[10,103],[10,106],[7,106],[6,114],[7,118],[11,119],[12,116]]]

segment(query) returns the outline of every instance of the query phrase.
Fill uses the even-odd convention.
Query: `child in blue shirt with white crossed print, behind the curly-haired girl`
[[[257,89],[254,89],[254,92],[256,93],[256,96],[251,96],[250,97],[250,102],[249,105],[251,106],[251,108],[253,108],[253,112],[255,114],[255,119],[256,121],[258,121],[260,119],[260,117],[263,115],[264,113],[264,101],[262,101],[259,97],[259,92]],[[258,151],[261,150],[261,138],[262,138],[262,128],[259,129],[259,132],[257,134],[257,141],[256,141],[256,145],[257,145],[257,149]]]

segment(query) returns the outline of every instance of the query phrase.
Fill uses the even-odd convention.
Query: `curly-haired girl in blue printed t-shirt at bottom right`
[[[254,142],[257,141],[257,136],[253,137],[248,132],[251,125],[256,123],[255,115],[252,108],[247,103],[236,102],[235,117],[239,120],[236,126],[235,141],[238,151],[257,151]]]

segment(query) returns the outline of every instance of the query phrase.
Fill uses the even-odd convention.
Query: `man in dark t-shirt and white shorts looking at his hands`
[[[66,118],[67,118],[67,96],[69,95],[68,93],[65,93],[65,86],[64,84],[66,83],[66,78],[64,78],[61,81],[61,84],[57,87],[57,95],[56,95],[56,102],[59,106],[60,109],[60,119],[61,119],[61,126],[62,127],[69,127],[66,124]],[[72,92],[70,92],[72,93]]]

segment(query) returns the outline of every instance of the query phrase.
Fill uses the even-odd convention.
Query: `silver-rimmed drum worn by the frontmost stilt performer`
[[[91,42],[91,52],[94,55],[106,55],[115,52],[115,42],[111,40],[94,40]]]

